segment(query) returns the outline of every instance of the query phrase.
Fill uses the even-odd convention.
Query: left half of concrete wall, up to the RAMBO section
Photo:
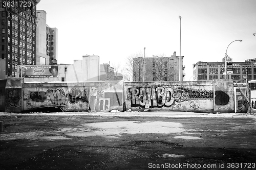
[[[20,78],[13,78],[11,82]],[[9,82],[9,81],[7,81]],[[105,82],[27,82],[21,86],[8,83],[7,112],[29,111],[37,108],[61,107],[64,111],[123,111],[122,81]],[[17,83],[18,84],[18,83]],[[13,103],[15,99],[15,104]],[[23,106],[23,107],[22,107]]]

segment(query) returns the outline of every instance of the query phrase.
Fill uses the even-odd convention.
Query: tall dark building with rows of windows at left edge
[[[17,65],[36,64],[36,5],[39,2],[0,1],[0,79],[17,77]]]

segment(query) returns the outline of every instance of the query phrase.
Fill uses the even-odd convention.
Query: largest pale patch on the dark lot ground
[[[68,136],[109,136],[122,133],[180,133],[185,131],[180,123],[173,122],[100,122],[82,124],[80,128],[62,128],[59,132],[64,132]],[[91,131],[89,131],[91,130]]]

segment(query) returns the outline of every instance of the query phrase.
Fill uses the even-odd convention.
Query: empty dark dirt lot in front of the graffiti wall
[[[256,168],[255,116],[80,112],[0,121],[0,169]]]

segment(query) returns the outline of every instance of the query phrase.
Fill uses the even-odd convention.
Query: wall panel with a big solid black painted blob
[[[214,80],[214,110],[220,113],[234,112],[234,90],[231,80]]]

